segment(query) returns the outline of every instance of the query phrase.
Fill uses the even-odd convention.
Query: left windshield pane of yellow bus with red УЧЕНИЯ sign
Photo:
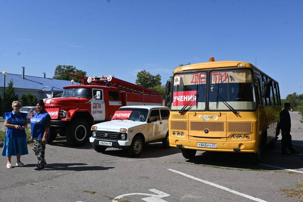
[[[198,104],[196,103],[198,94]],[[175,74],[172,110],[205,110],[206,101],[206,72],[191,72]]]

